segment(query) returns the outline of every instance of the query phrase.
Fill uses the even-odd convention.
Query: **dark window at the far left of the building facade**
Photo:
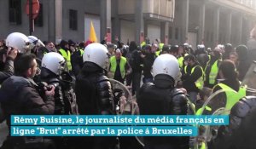
[[[9,22],[14,25],[21,24],[21,1],[9,0]]]

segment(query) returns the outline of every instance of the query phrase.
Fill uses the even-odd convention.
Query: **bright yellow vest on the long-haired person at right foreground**
[[[227,99],[225,108],[227,110],[230,110],[236,104],[236,102],[238,102],[242,97],[246,96],[246,89],[245,88],[240,87],[239,91],[236,92],[236,90],[231,89],[228,85],[226,85],[224,83],[218,83],[217,85],[221,89],[225,90],[226,99]],[[217,85],[215,85],[215,87]]]

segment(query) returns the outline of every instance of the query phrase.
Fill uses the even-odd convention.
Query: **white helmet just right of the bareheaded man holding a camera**
[[[64,70],[65,59],[61,54],[50,52],[44,54],[42,59],[42,67],[54,72],[56,75],[61,75]]]

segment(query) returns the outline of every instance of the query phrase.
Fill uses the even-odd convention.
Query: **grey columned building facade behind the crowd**
[[[41,40],[86,41],[90,22],[98,40],[115,36],[123,43],[246,43],[256,20],[254,0],[38,0],[41,6],[32,35]],[[0,1],[0,38],[29,34],[26,0]]]

